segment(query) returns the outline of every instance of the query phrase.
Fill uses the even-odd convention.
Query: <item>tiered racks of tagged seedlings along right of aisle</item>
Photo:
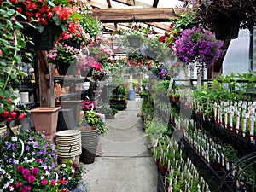
[[[165,93],[168,93],[170,81],[162,79],[155,82],[153,90],[149,90],[153,96],[152,101],[148,100],[150,97],[143,100],[142,112],[145,136],[150,138],[148,144],[152,147],[164,188],[170,189],[172,186],[172,191],[187,190],[183,182],[189,183],[189,178],[182,181],[180,178],[184,178],[184,175],[176,178],[175,174],[171,178],[175,169],[170,165],[172,162],[179,165],[180,161],[175,160],[179,154],[183,154],[182,157],[196,154],[196,160],[192,158],[193,162],[189,163],[189,167],[200,167],[203,170],[211,167],[212,176],[214,175],[208,177],[210,174],[207,176],[201,172],[201,177],[199,175],[193,177],[192,180],[199,177],[204,179],[205,184],[200,189],[207,187],[209,190],[215,188],[227,190],[229,183],[239,183],[241,180],[247,183],[248,190],[253,189],[252,181],[255,179],[252,172],[253,166],[248,166],[247,170],[243,170],[244,172],[238,171],[247,165],[246,162],[241,163],[240,168],[230,173],[224,184],[220,183],[222,176],[230,170],[231,166],[236,165],[239,158],[243,160],[247,154],[253,153],[256,149],[254,82],[254,73],[220,75],[219,79],[213,79],[204,86],[194,87],[194,90],[179,85],[178,89],[171,90],[173,96],[174,93],[180,96],[179,101],[172,98],[167,103],[164,98]],[[148,118],[145,115],[148,115]],[[166,140],[166,135],[182,143],[183,147],[179,149],[179,153],[176,150],[166,149],[166,145],[168,147],[172,145],[172,142]],[[193,154],[190,154],[191,152]],[[199,161],[201,163],[198,163]],[[193,163],[194,166],[192,166]],[[185,164],[181,163],[180,166]],[[170,172],[168,167],[172,167],[169,168]],[[249,178],[245,179],[244,174],[248,174]],[[176,180],[179,182],[175,183]],[[213,180],[215,182],[212,182]],[[194,186],[193,182],[191,186]],[[232,189],[241,189],[241,186],[234,184]]]

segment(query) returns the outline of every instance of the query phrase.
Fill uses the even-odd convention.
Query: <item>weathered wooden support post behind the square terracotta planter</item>
[[[46,59],[46,51],[37,50],[40,106],[55,107],[54,70]]]

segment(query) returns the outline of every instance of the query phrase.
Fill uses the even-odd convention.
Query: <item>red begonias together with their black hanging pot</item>
[[[76,9],[67,1],[12,1],[16,9],[25,15],[20,22],[26,25],[23,33],[32,38],[30,49],[49,50],[54,48],[54,41],[61,33],[67,32],[68,24],[79,18]]]

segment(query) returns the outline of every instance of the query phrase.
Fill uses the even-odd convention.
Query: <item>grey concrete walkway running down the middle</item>
[[[102,138],[103,154],[84,165],[91,192],[154,192],[156,166],[143,138],[137,117],[140,98],[128,101],[125,111],[107,119],[109,132]]]

